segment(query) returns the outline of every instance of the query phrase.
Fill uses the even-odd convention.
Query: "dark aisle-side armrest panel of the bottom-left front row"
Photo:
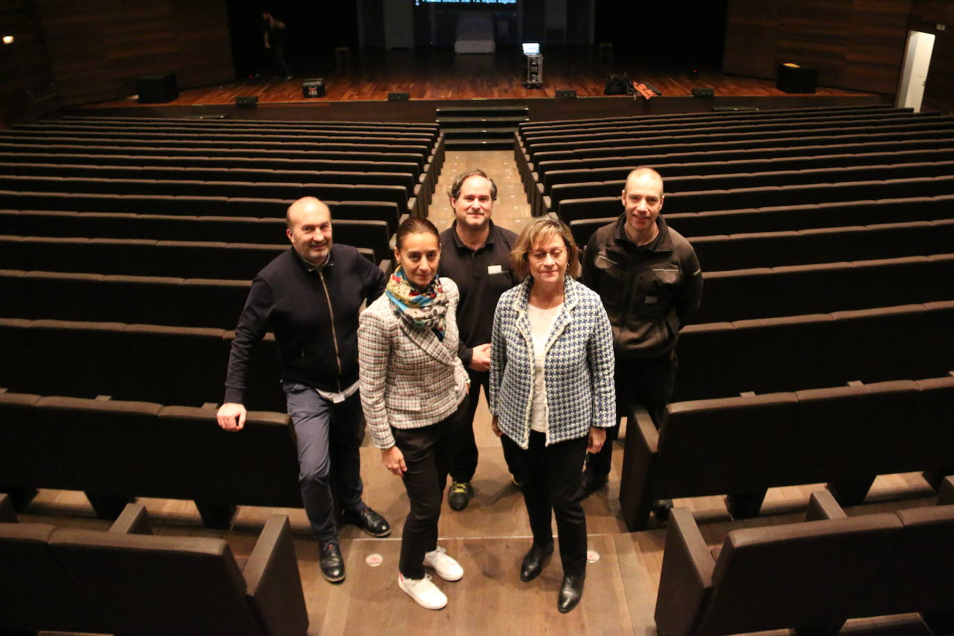
[[[308,611],[288,517],[269,517],[242,576],[249,606],[259,617],[265,633],[304,636],[308,630]]]

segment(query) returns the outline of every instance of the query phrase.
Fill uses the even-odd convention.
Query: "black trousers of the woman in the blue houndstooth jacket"
[[[563,573],[567,576],[584,574],[587,569],[587,518],[576,493],[580,487],[580,464],[587,452],[587,438],[547,446],[546,435],[530,431],[527,450],[506,435],[501,440],[505,446],[510,446],[520,462],[533,544],[542,546],[553,541],[550,520],[555,515]]]

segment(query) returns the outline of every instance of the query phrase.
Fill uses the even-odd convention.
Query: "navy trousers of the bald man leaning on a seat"
[[[362,505],[361,392],[335,404],[304,384],[284,382],[282,388],[298,445],[301,503],[312,532],[320,541],[329,541],[338,534],[332,486],[344,508],[358,510]]]

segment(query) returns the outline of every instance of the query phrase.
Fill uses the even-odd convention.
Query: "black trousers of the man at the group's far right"
[[[675,372],[678,367],[673,356],[650,360],[616,359],[616,423],[606,429],[606,442],[595,455],[587,454],[587,471],[593,475],[610,474],[612,441],[619,437],[619,417],[626,413],[628,404],[636,402],[649,412],[656,428],[662,423],[666,404],[673,399]]]

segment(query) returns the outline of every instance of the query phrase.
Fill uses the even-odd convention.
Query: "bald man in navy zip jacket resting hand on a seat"
[[[386,277],[358,250],[332,245],[331,213],[312,196],[285,215],[292,247],[262,269],[239,317],[229,355],[225,403],[218,425],[239,431],[245,372],[253,345],[275,334],[288,414],[298,443],[301,501],[319,540],[321,574],[344,579],[344,562],[332,506],[329,469],[341,495],[344,521],[375,537],[391,532],[362,501],[363,413],[358,393],[358,314],[384,293]]]

